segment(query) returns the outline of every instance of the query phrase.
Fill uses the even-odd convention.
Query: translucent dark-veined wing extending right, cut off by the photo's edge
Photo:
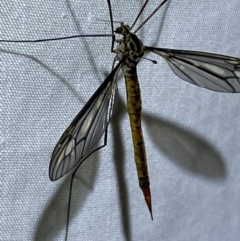
[[[218,92],[240,92],[240,59],[188,50],[145,47],[163,57],[181,79]]]

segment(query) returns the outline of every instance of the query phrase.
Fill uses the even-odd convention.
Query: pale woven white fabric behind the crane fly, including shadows
[[[150,1],[140,22],[160,1]],[[112,1],[132,23],[143,1]],[[110,33],[105,0],[1,0],[1,39]],[[115,27],[118,24],[115,24]],[[146,45],[240,57],[239,0],[171,0]],[[59,137],[111,69],[110,38],[1,44],[1,240],[64,240],[70,175],[51,182]],[[124,81],[108,145],[79,169],[68,240],[240,237],[240,94],[180,80],[156,55],[138,66],[154,221],[135,170]]]

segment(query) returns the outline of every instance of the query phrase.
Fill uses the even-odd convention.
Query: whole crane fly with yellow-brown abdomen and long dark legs
[[[191,84],[217,92],[240,92],[240,59],[238,58],[198,51],[145,46],[136,36],[136,33],[168,0],[161,2],[149,17],[134,32],[131,32],[148,1],[145,1],[131,27],[120,23],[120,26],[114,30],[111,2],[107,0],[112,33],[98,36],[112,37],[111,51],[115,54],[112,72],[62,134],[53,150],[49,166],[49,177],[52,181],[58,180],[69,171],[74,170],[71,179],[69,208],[73,178],[77,169],[93,152],[107,144],[107,129],[112,116],[117,76],[120,69],[125,77],[127,112],[130,119],[139,186],[143,192],[151,218],[153,216],[150,181],[141,127],[142,101],[136,70],[139,61],[145,54],[152,52],[165,59],[178,77]],[[122,38],[115,39],[116,34],[121,35]],[[91,35],[30,41],[1,40],[1,42],[43,42],[89,36]],[[117,47],[114,49],[115,43],[117,43]],[[115,65],[116,61],[118,63]],[[152,62],[155,63],[155,61]],[[102,135],[104,135],[104,144],[98,146],[97,144]]]

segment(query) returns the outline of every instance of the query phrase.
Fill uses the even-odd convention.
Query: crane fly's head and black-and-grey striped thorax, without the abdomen
[[[115,40],[118,43],[114,50],[116,53],[115,60],[119,61],[126,57],[122,64],[122,70],[124,75],[131,75],[131,69],[137,65],[144,54],[144,45],[135,34],[130,32],[128,25],[121,23],[121,26],[115,32],[123,35],[122,39]]]

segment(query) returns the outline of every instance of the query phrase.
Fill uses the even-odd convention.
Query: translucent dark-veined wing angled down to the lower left
[[[90,154],[101,148],[96,145],[107,130],[111,118],[116,76],[121,63],[96,90],[58,141],[49,166],[52,181],[61,178],[72,168],[77,168]]]

